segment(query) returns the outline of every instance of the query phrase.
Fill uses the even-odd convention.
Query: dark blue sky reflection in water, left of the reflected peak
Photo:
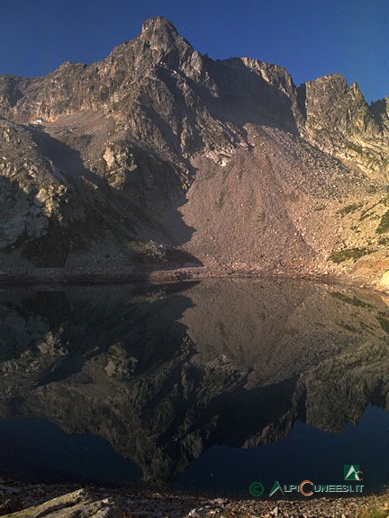
[[[141,470],[91,433],[63,432],[46,419],[0,420],[0,473],[33,481],[131,484]]]

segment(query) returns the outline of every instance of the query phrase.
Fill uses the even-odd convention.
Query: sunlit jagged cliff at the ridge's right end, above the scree
[[[300,87],[307,138],[350,168],[387,182],[388,129],[375,116],[356,83],[343,76],[324,76]],[[386,112],[387,117],[387,112]]]

